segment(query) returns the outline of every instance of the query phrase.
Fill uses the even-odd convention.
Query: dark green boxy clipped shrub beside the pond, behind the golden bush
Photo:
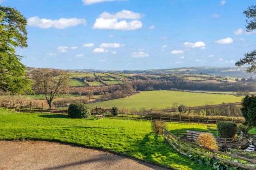
[[[230,121],[218,122],[218,136],[221,138],[234,138],[237,133],[237,124]]]

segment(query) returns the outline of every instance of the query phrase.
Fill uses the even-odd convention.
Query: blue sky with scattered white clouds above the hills
[[[28,21],[30,67],[146,70],[234,66],[254,50],[255,0],[0,0]]]

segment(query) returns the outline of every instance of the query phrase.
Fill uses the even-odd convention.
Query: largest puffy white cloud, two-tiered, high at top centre
[[[103,12],[100,17],[96,19],[92,28],[94,29],[120,29],[120,30],[134,30],[142,27],[142,22],[137,20],[141,18],[140,13],[135,13],[128,10],[122,10],[116,14],[109,14]],[[120,20],[129,19],[131,21]]]

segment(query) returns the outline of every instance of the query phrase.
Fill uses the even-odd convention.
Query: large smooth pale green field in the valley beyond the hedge
[[[243,96],[225,94],[202,94],[191,92],[176,92],[167,90],[140,92],[126,98],[92,103],[90,106],[102,106],[103,108],[119,107],[136,109],[165,109],[171,107],[173,102],[186,106],[204,106],[222,104],[223,102],[241,102]]]

